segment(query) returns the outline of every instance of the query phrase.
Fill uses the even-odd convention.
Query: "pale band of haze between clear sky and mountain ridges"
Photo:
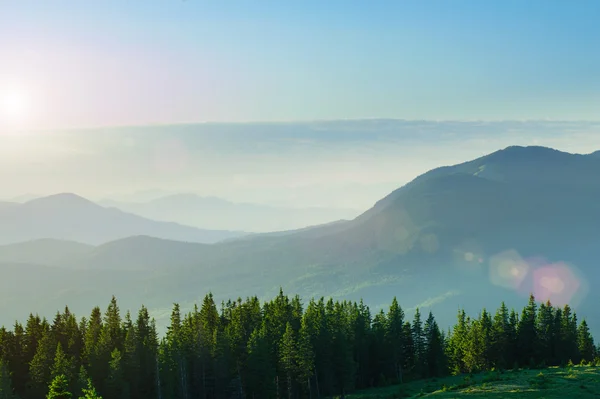
[[[513,144],[589,153],[600,148],[599,133],[593,122],[399,120],[21,133],[0,136],[0,198],[75,192],[145,201],[195,193],[364,211],[434,167]]]

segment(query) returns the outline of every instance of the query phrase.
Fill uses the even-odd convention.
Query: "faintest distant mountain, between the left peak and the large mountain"
[[[211,229],[254,232],[284,231],[353,219],[361,211],[344,208],[286,208],[234,203],[217,197],[173,194],[146,202],[105,199],[99,204],[153,220],[183,223]]]

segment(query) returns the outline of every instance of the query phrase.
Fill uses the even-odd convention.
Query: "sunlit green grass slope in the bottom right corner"
[[[429,379],[365,390],[346,395],[346,398],[563,399],[597,398],[598,396],[600,396],[600,368],[574,366]]]

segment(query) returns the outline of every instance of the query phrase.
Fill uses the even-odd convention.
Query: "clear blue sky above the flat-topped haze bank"
[[[598,120],[600,2],[0,0],[35,128]]]

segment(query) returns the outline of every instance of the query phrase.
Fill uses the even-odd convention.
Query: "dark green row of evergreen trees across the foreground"
[[[78,320],[31,314],[0,329],[0,399],[321,398],[419,378],[596,361],[587,323],[567,305],[492,315],[458,312],[443,331],[394,298],[372,314],[362,301],[311,300],[280,291],[271,301],[212,294],[186,314],[173,306],[159,337],[148,309],[135,320],[108,308]]]

